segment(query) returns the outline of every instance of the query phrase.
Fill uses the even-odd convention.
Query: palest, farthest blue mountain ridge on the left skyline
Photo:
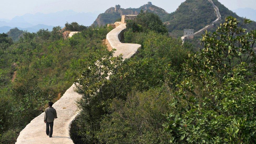
[[[95,13],[78,13],[73,10],[64,10],[56,13],[36,13],[36,14],[24,14],[22,16],[16,16],[10,23],[31,23],[33,25],[44,24],[54,26],[64,26],[66,22],[77,22],[79,24],[89,26],[97,18],[98,12]]]

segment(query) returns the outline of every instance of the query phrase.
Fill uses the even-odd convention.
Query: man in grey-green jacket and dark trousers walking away
[[[44,112],[44,123],[46,123],[46,135],[49,137],[52,137],[52,129],[53,129],[53,121],[54,118],[57,118],[57,112],[56,110],[52,107],[53,102],[48,103],[49,107],[45,109]],[[50,130],[49,130],[50,126]]]

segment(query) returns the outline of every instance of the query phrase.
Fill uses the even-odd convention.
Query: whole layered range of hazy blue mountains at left
[[[52,30],[54,26],[64,26],[66,22],[77,22],[89,26],[97,18],[100,12],[78,13],[73,10],[64,10],[56,13],[36,13],[16,16],[11,20],[0,19],[0,33],[6,33],[10,29],[17,27],[20,30],[36,32],[39,29]]]

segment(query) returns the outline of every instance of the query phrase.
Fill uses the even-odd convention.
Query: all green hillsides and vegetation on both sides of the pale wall
[[[15,143],[72,84],[82,96],[74,143],[255,143],[256,23],[213,2],[222,20],[194,39],[198,51],[169,32],[215,20],[207,0],[186,0],[171,14],[148,3],[110,8],[91,27],[0,34],[0,143]],[[113,29],[105,24],[122,14],[138,15],[121,41],[141,44],[125,60],[105,45]],[[70,31],[80,33],[67,38]]]

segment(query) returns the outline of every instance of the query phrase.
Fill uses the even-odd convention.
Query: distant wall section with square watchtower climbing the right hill
[[[181,37],[182,43],[184,43],[184,41],[187,39],[193,39],[194,36],[201,35],[205,30],[207,30],[209,28],[213,28],[214,25],[221,20],[221,14],[220,14],[219,8],[214,4],[214,2],[212,0],[208,0],[208,1],[212,4],[212,6],[216,12],[217,19],[214,20],[210,25],[206,25],[204,28],[200,29],[199,31],[197,31],[195,33],[194,33],[193,29],[184,29],[184,36]],[[191,31],[193,31],[192,34],[185,34],[185,33],[191,33]]]

